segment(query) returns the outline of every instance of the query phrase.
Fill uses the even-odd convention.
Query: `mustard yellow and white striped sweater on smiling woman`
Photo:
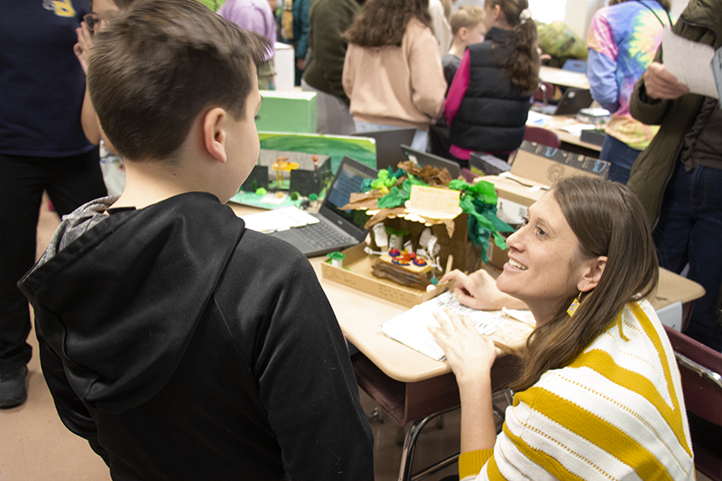
[[[516,393],[494,449],[459,458],[459,477],[475,476],[694,479],[680,373],[650,303],[627,304],[574,362]]]

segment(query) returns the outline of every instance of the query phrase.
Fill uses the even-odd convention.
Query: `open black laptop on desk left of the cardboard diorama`
[[[307,257],[341,251],[363,242],[368,232],[364,228],[369,218],[366,211],[340,208],[348,203],[352,192],[361,191],[361,182],[375,179],[377,174],[375,169],[344,157],[319,212],[311,213],[319,219],[319,223],[276,231],[271,236],[296,246]]]

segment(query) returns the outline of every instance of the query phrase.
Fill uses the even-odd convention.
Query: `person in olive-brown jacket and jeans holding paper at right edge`
[[[722,0],[691,0],[672,32],[719,49]],[[685,334],[722,350],[722,109],[717,98],[690,93],[664,68],[662,48],[634,88],[632,116],[659,133],[639,155],[628,182],[653,230],[660,265],[699,282]]]

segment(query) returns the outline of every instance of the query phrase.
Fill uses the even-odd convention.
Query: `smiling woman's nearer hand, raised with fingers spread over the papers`
[[[494,341],[479,334],[468,316],[458,319],[450,310],[444,310],[434,312],[434,317],[440,328],[430,327],[429,331],[443,349],[459,389],[488,380],[496,358]]]

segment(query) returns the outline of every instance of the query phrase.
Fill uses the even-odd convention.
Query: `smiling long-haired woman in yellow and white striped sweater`
[[[694,479],[680,375],[643,299],[658,266],[634,195],[616,182],[560,180],[507,244],[496,282],[458,271],[442,279],[457,280],[469,307],[526,306],[537,320],[498,439],[493,342],[468,319],[431,329],[461,397],[460,477]]]

